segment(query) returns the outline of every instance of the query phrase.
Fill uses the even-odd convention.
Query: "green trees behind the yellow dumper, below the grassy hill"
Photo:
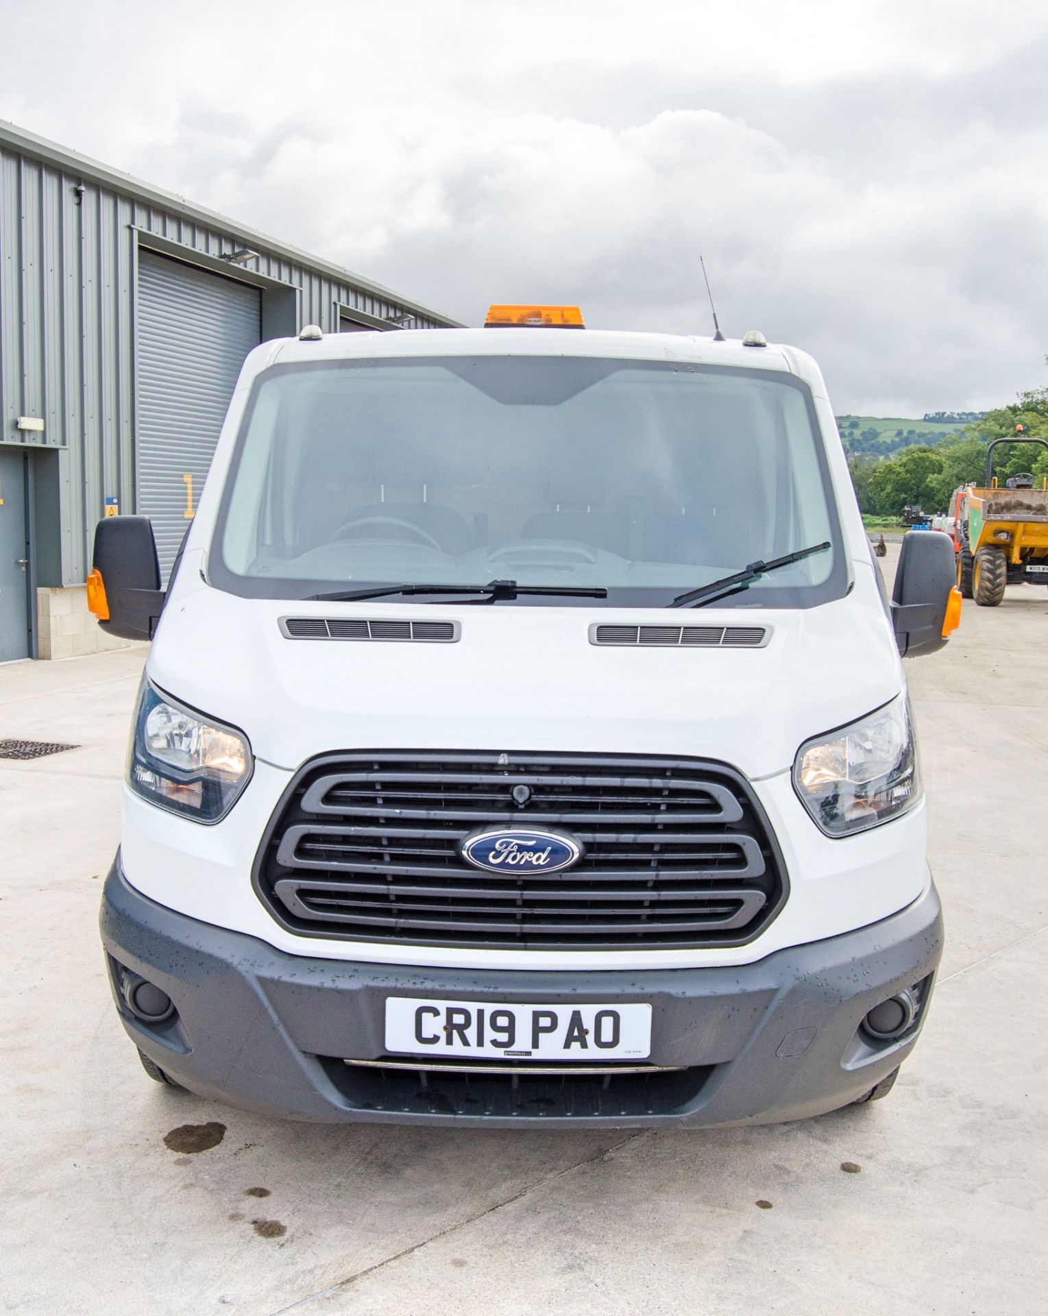
[[[960,484],[982,484],[990,441],[1014,433],[1016,425],[1026,425],[1031,438],[1048,438],[1048,387],[1019,393],[1016,401],[986,412],[933,446],[910,445],[894,457],[881,458],[851,453],[848,470],[860,509],[873,516],[898,516],[907,503],[915,503],[928,513],[949,512],[951,496]],[[1002,484],[1020,471],[1031,471],[1039,484],[1048,476],[1048,449],[1028,443],[994,449],[994,475]]]

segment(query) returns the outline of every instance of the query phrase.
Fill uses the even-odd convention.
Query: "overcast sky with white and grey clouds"
[[[466,322],[762,329],[837,412],[1048,383],[1048,7],[0,0],[0,118]]]

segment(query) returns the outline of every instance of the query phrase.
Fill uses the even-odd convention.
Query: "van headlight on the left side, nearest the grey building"
[[[251,778],[244,732],[224,726],[142,682],[128,784],[142,799],[197,822],[217,822]]]

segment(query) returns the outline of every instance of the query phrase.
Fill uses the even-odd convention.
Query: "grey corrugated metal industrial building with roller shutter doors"
[[[456,321],[0,122],[0,662],[121,644],[95,522],[151,517],[166,576],[244,357],[303,324]]]

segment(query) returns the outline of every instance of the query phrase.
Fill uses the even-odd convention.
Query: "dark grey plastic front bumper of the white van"
[[[795,1120],[847,1105],[908,1055],[943,949],[933,886],[881,923],[725,969],[520,973],[406,969],[288,955],[140,895],[120,858],[101,937],[132,1041],[176,1082],[244,1109],[299,1120],[612,1128]],[[163,988],[176,1016],[142,1024],[122,971]],[[899,1041],[858,1032],[893,992],[924,983]],[[675,1073],[519,1080],[346,1066],[383,1055],[388,995],[466,1001],[649,1001],[653,1066]],[[421,1067],[421,1065],[420,1065]]]

